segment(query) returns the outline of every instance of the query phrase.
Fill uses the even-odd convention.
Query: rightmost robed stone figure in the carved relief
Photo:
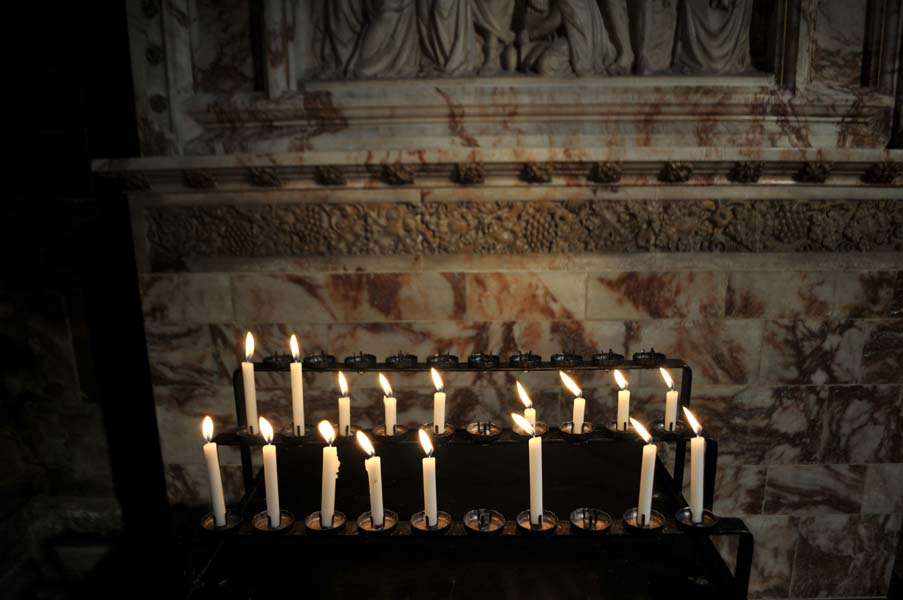
[[[681,73],[743,73],[751,68],[753,0],[681,0],[674,68]]]

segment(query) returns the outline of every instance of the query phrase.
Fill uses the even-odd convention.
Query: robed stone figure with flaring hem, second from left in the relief
[[[367,0],[366,6],[355,76],[416,77],[420,71],[416,0]]]

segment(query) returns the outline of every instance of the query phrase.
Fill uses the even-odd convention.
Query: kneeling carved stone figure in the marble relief
[[[521,68],[540,75],[603,74],[615,59],[596,0],[528,0],[518,41]]]

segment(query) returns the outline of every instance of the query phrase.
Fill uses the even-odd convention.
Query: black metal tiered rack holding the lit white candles
[[[373,355],[360,353],[342,364],[322,354],[309,356],[304,363],[305,369],[311,371],[345,369],[360,373],[423,372],[434,365],[441,365],[443,373],[561,368],[572,372],[632,371],[664,367],[681,372],[679,402],[681,406],[690,404],[691,368],[682,360],[667,358],[654,350],[634,354],[632,360],[611,351],[596,353],[591,360],[564,354],[555,355],[549,362],[538,359],[532,353],[515,355],[508,361],[500,361],[494,355],[472,355],[467,361],[441,355],[419,362],[413,355],[398,353],[391,360],[379,363]],[[290,360],[286,355],[275,355],[256,363],[255,370],[288,372]],[[523,436],[511,429],[496,423],[471,423],[467,427],[458,424],[461,427],[436,447],[439,508],[445,519],[441,528],[424,527],[419,522],[422,512],[418,511],[422,511],[423,504],[417,459],[422,452],[416,432],[398,436],[392,443],[374,437],[377,454],[383,457],[385,505],[399,515],[391,531],[388,528],[384,532],[376,531],[384,534],[376,537],[361,535],[374,531],[362,531],[354,518],[369,514],[366,513],[369,500],[364,455],[353,438],[340,437],[336,443],[341,462],[336,509],[343,511],[339,512],[342,525],[325,528],[332,535],[323,535],[324,528],[318,523],[311,526],[315,515],[306,520],[304,515],[319,509],[324,442],[313,433],[302,437],[280,436],[276,444],[281,505],[302,514],[287,528],[287,535],[254,536],[250,517],[262,508],[265,499],[262,473],[255,475],[251,455],[262,440],[238,435],[247,426],[241,369],[235,371],[233,383],[238,429],[220,433],[214,441],[240,449],[245,494],[236,510],[244,522],[224,532],[235,542],[232,546],[235,562],[230,563],[226,558],[229,553],[220,549],[220,569],[240,569],[239,563],[248,559],[242,552],[253,544],[257,548],[255,560],[268,557],[267,560],[279,562],[287,560],[287,553],[294,557],[294,566],[290,568],[303,569],[298,565],[307,565],[315,569],[315,579],[321,583],[335,578],[333,582],[339,587],[321,589],[325,596],[344,597],[336,590],[345,590],[350,596],[358,584],[361,587],[355,593],[364,595],[393,594],[397,591],[394,586],[416,588],[410,572],[438,578],[438,588],[429,588],[435,595],[447,595],[440,589],[444,590],[452,582],[452,588],[459,594],[455,597],[470,597],[471,591],[485,595],[494,589],[507,597],[512,585],[541,592],[547,580],[540,581],[535,576],[544,572],[559,585],[548,588],[548,592],[565,596],[572,593],[600,598],[673,598],[675,593],[692,593],[696,598],[747,596],[753,537],[740,519],[719,518],[712,513],[718,444],[711,438],[707,439],[705,452],[705,518],[702,524],[693,524],[689,519],[682,493],[686,446],[690,439],[687,428],[675,432],[653,431],[657,441],[672,444],[674,450],[671,471],[661,457],[656,459],[653,514],[660,523],[654,526],[646,523],[637,526],[635,508],[630,508],[636,505],[642,454],[642,442],[632,431],[625,435],[605,426],[589,427],[581,432],[565,427],[548,431],[543,441],[544,506],[561,515],[552,527],[530,527],[529,523],[519,527],[518,522],[523,519],[520,513],[529,516],[523,511],[528,498],[527,451]],[[554,516],[551,510],[546,512]],[[415,515],[417,522],[403,520],[407,515]],[[550,518],[541,521],[547,524],[546,519]],[[359,541],[365,538],[366,543]],[[715,538],[736,540],[733,569],[721,558],[713,542]],[[261,543],[266,546],[263,550],[258,547]],[[260,551],[263,554],[257,553]],[[299,556],[306,557],[307,562],[298,562]],[[323,558],[329,556],[339,561],[354,560],[354,563],[345,565],[345,569],[330,566]],[[488,572],[485,569],[490,563],[486,561],[495,565]],[[530,561],[536,563],[537,570],[531,570]],[[230,564],[232,567],[227,566]],[[398,569],[393,570],[389,565]],[[510,570],[506,571],[509,566]],[[349,580],[346,571],[350,567],[356,573],[368,575]],[[211,563],[205,569],[215,573],[217,567]],[[517,577],[510,579],[512,574]],[[479,576],[476,583],[475,576]],[[561,583],[562,577],[568,578],[565,584]],[[423,595],[430,595],[426,591],[424,588]]]

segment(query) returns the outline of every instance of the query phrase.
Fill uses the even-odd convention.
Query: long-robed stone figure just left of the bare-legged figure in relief
[[[417,23],[425,74],[432,70],[463,76],[473,71],[471,0],[417,0]]]

